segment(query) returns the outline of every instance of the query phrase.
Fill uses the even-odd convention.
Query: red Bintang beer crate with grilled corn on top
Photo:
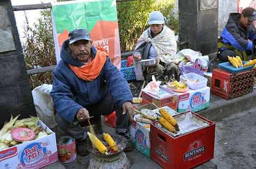
[[[176,116],[180,116],[181,113]],[[151,124],[151,158],[163,168],[191,168],[214,158],[215,124],[193,113],[209,123],[201,128],[181,136],[173,137]]]

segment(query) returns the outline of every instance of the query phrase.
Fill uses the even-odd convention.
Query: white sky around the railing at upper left
[[[12,6],[16,5],[32,5],[32,4],[41,4],[41,3],[51,3],[55,0],[11,0]],[[33,23],[40,16],[40,10],[27,10],[26,11],[29,25],[32,27]],[[24,25],[25,25],[25,13],[24,11],[14,11],[15,20],[17,29],[19,32],[20,40],[23,40],[24,37]]]

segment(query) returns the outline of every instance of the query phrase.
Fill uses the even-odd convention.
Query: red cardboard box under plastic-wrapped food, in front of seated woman
[[[177,111],[177,94],[175,94],[172,91],[168,91],[168,93],[169,94],[164,98],[158,98],[153,94],[150,94],[146,91],[142,91],[142,105],[147,103],[155,103],[158,107],[168,106]]]

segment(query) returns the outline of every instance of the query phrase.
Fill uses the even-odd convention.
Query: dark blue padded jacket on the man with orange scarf
[[[61,60],[53,70],[53,89],[50,93],[54,107],[62,118],[71,123],[80,108],[100,102],[106,94],[111,94],[120,107],[124,102],[132,102],[127,81],[116,66],[112,65],[109,57],[95,80],[84,81],[78,78],[68,64],[82,66],[83,63],[71,56],[68,44],[69,40],[62,44]],[[92,47],[91,52],[95,57],[95,47]]]

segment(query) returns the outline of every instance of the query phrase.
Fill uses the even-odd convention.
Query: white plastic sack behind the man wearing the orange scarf
[[[49,128],[57,126],[54,119],[51,90],[52,85],[50,84],[43,84],[32,90],[36,114]]]

